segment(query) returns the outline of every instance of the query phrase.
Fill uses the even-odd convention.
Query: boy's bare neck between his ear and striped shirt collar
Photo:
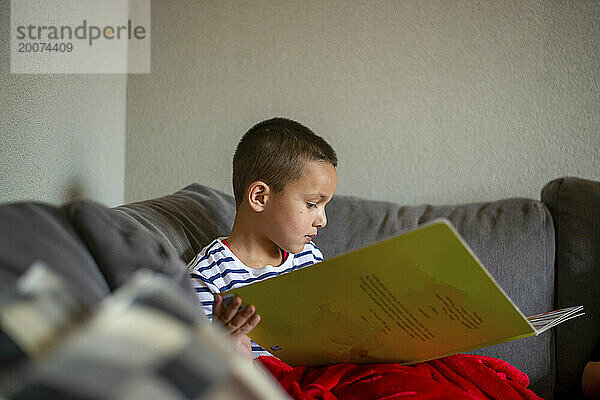
[[[227,246],[244,265],[262,268],[265,265],[278,266],[283,263],[282,250],[267,238],[256,232],[252,223],[236,215]]]

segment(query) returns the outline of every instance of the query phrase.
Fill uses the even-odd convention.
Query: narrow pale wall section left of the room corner
[[[124,201],[127,75],[10,73],[0,1],[0,202]]]

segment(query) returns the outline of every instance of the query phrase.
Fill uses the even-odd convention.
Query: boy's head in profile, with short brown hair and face
[[[234,231],[239,218],[254,240],[302,251],[327,223],[336,166],[331,146],[298,122],[274,118],[255,125],[233,157]]]

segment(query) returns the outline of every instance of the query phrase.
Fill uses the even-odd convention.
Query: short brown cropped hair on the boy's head
[[[254,125],[242,136],[233,156],[233,193],[242,203],[252,182],[263,181],[274,192],[302,176],[307,161],[337,166],[333,148],[304,125],[272,118]]]

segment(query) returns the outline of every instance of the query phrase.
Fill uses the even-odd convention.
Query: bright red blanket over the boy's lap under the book
[[[540,399],[529,378],[493,357],[457,354],[415,365],[332,364],[290,367],[259,357],[296,400]]]

